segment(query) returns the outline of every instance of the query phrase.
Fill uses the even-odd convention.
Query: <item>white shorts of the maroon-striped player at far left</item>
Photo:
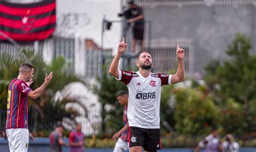
[[[11,152],[27,152],[29,147],[29,129],[6,129]]]

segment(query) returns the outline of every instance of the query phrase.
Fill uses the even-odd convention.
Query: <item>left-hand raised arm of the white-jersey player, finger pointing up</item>
[[[127,46],[127,44],[124,42],[124,38],[123,38],[122,42],[120,42],[120,44],[118,45],[117,54],[116,54],[116,56],[114,56],[114,59],[110,64],[109,73],[116,78],[119,78],[118,63],[119,63],[119,60],[120,60],[122,54],[124,53],[124,51],[126,49],[126,46]]]

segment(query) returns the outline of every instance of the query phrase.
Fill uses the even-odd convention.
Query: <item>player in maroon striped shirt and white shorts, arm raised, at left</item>
[[[28,97],[36,99],[50,83],[52,72],[45,75],[44,83],[36,90],[29,88],[33,83],[34,67],[29,63],[22,63],[19,67],[19,75],[9,84],[6,134],[9,140],[10,151],[28,151]]]

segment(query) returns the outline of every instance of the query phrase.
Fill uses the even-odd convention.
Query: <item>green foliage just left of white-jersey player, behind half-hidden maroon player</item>
[[[91,86],[91,90],[102,103],[102,132],[112,134],[123,127],[123,106],[117,104],[116,95],[120,90],[127,90],[127,87],[107,73],[107,65],[109,64],[103,66],[102,76],[96,78],[97,83]],[[105,110],[106,105],[111,105],[112,110]]]

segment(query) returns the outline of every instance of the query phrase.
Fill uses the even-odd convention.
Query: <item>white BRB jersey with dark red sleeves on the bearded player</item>
[[[143,77],[139,71],[119,70],[118,80],[127,85],[129,102],[127,117],[129,126],[160,128],[161,86],[171,84],[171,75],[151,73]]]

